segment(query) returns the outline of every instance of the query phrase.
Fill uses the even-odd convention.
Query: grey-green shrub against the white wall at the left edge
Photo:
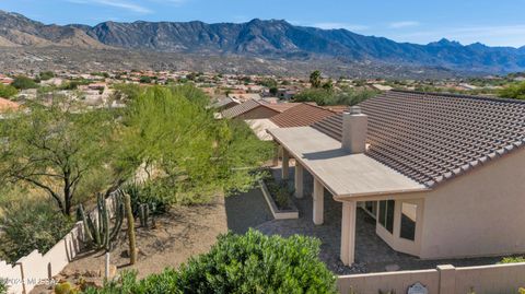
[[[0,226],[0,259],[14,262],[35,249],[47,252],[71,230],[72,222],[48,202],[19,201],[4,209]]]

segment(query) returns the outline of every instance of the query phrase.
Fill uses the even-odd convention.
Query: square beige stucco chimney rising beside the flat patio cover
[[[351,106],[342,113],[342,148],[352,154],[366,150],[366,129],[369,117],[361,113],[361,107]]]

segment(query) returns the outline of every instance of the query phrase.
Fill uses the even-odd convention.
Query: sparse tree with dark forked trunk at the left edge
[[[45,191],[69,215],[85,178],[107,167],[108,114],[61,98],[33,105],[0,125],[0,178]]]

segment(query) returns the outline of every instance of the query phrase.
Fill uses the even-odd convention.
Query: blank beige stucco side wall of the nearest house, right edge
[[[525,252],[525,149],[413,197],[425,198],[421,258]]]

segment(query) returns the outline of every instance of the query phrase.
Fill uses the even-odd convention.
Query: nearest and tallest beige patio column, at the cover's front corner
[[[342,202],[341,261],[351,266],[355,257],[355,213],[357,201]]]

